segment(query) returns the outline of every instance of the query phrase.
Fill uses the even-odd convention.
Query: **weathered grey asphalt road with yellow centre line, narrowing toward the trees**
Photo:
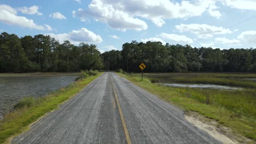
[[[107,72],[11,143],[220,143],[183,111]]]

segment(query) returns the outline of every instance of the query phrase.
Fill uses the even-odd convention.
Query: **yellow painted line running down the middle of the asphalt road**
[[[127,127],[126,127],[126,123],[125,123],[125,120],[124,120],[123,112],[121,110],[121,106],[119,104],[119,100],[118,100],[118,97],[117,97],[117,92],[115,92],[115,88],[114,88],[112,79],[111,79],[111,84],[112,84],[113,91],[114,91],[114,94],[115,94],[115,100],[117,100],[118,111],[120,113],[121,121],[122,121],[122,124],[123,124],[125,138],[126,138],[127,144],[131,144],[131,139],[130,139],[130,136],[129,136],[129,132],[128,132]]]

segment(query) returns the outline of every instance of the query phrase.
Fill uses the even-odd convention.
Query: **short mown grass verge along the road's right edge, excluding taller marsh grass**
[[[256,122],[254,115],[248,115],[248,113],[237,113],[236,110],[232,111],[231,109],[217,103],[210,103],[207,105],[204,100],[200,101],[193,98],[193,95],[199,94],[199,92],[186,92],[184,90],[185,88],[182,89],[155,85],[147,78],[141,81],[141,77],[138,76],[131,77],[129,75],[118,74],[132,81],[135,85],[146,89],[148,92],[158,95],[159,98],[181,107],[185,112],[198,112],[207,118],[217,121],[219,127],[228,127],[234,134],[253,139],[256,143]],[[226,131],[223,129],[223,132],[225,133]]]

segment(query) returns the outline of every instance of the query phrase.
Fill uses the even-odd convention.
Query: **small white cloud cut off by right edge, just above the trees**
[[[256,31],[242,32],[237,38],[245,43],[256,44]]]

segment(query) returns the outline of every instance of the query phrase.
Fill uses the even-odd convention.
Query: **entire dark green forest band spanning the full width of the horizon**
[[[190,45],[162,45],[160,42],[123,44],[121,51],[100,53],[96,45],[66,40],[60,44],[49,35],[19,38],[3,32],[0,35],[0,72],[80,71],[85,69],[140,71],[138,65],[147,65],[147,72],[256,72],[256,49],[212,49]]]

